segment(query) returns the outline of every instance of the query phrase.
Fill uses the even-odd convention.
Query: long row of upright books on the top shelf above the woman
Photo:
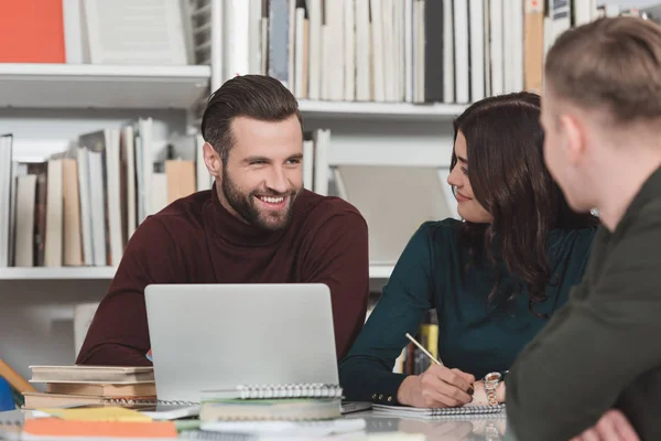
[[[596,0],[268,0],[226,2],[223,82],[280,79],[301,99],[467,104],[541,92],[564,30],[638,14]],[[545,4],[549,7],[545,8]]]

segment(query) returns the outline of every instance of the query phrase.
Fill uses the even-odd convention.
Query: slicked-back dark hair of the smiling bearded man
[[[230,127],[235,118],[283,121],[292,115],[303,125],[296,98],[280,80],[264,75],[237,76],[209,97],[202,117],[202,137],[227,164],[235,142]]]

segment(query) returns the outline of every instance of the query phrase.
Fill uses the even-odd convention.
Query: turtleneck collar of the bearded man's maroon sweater
[[[280,240],[289,228],[269,232],[246,224],[220,204],[216,182],[212,186],[210,200],[204,206],[204,229],[208,236],[241,247],[272,245]]]

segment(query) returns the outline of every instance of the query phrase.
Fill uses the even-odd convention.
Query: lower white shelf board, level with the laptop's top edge
[[[370,265],[372,279],[387,279],[392,272],[390,265]],[[61,267],[61,268],[0,268],[0,283],[7,280],[111,280],[115,267]]]

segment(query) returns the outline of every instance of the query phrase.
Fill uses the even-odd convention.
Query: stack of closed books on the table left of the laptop
[[[24,392],[25,409],[71,406],[124,406],[155,401],[152,367],[30,366],[30,383],[43,392]]]

